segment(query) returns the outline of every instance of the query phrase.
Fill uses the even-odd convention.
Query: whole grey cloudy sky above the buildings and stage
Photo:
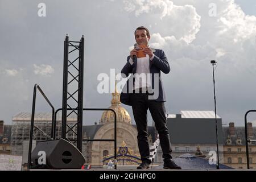
[[[168,113],[214,110],[210,60],[217,60],[217,114],[243,126],[246,111],[256,109],[255,9],[254,0],[0,0],[0,119],[11,124],[16,113],[31,112],[35,83],[61,107],[67,33],[75,41],[85,35],[84,107],[109,107],[111,94],[97,92],[97,76],[121,71],[143,25],[151,47],[164,49],[171,65],[162,75]],[[130,106],[123,107],[133,119]],[[50,111],[42,97],[36,111]],[[86,111],[84,125],[100,117]]]

